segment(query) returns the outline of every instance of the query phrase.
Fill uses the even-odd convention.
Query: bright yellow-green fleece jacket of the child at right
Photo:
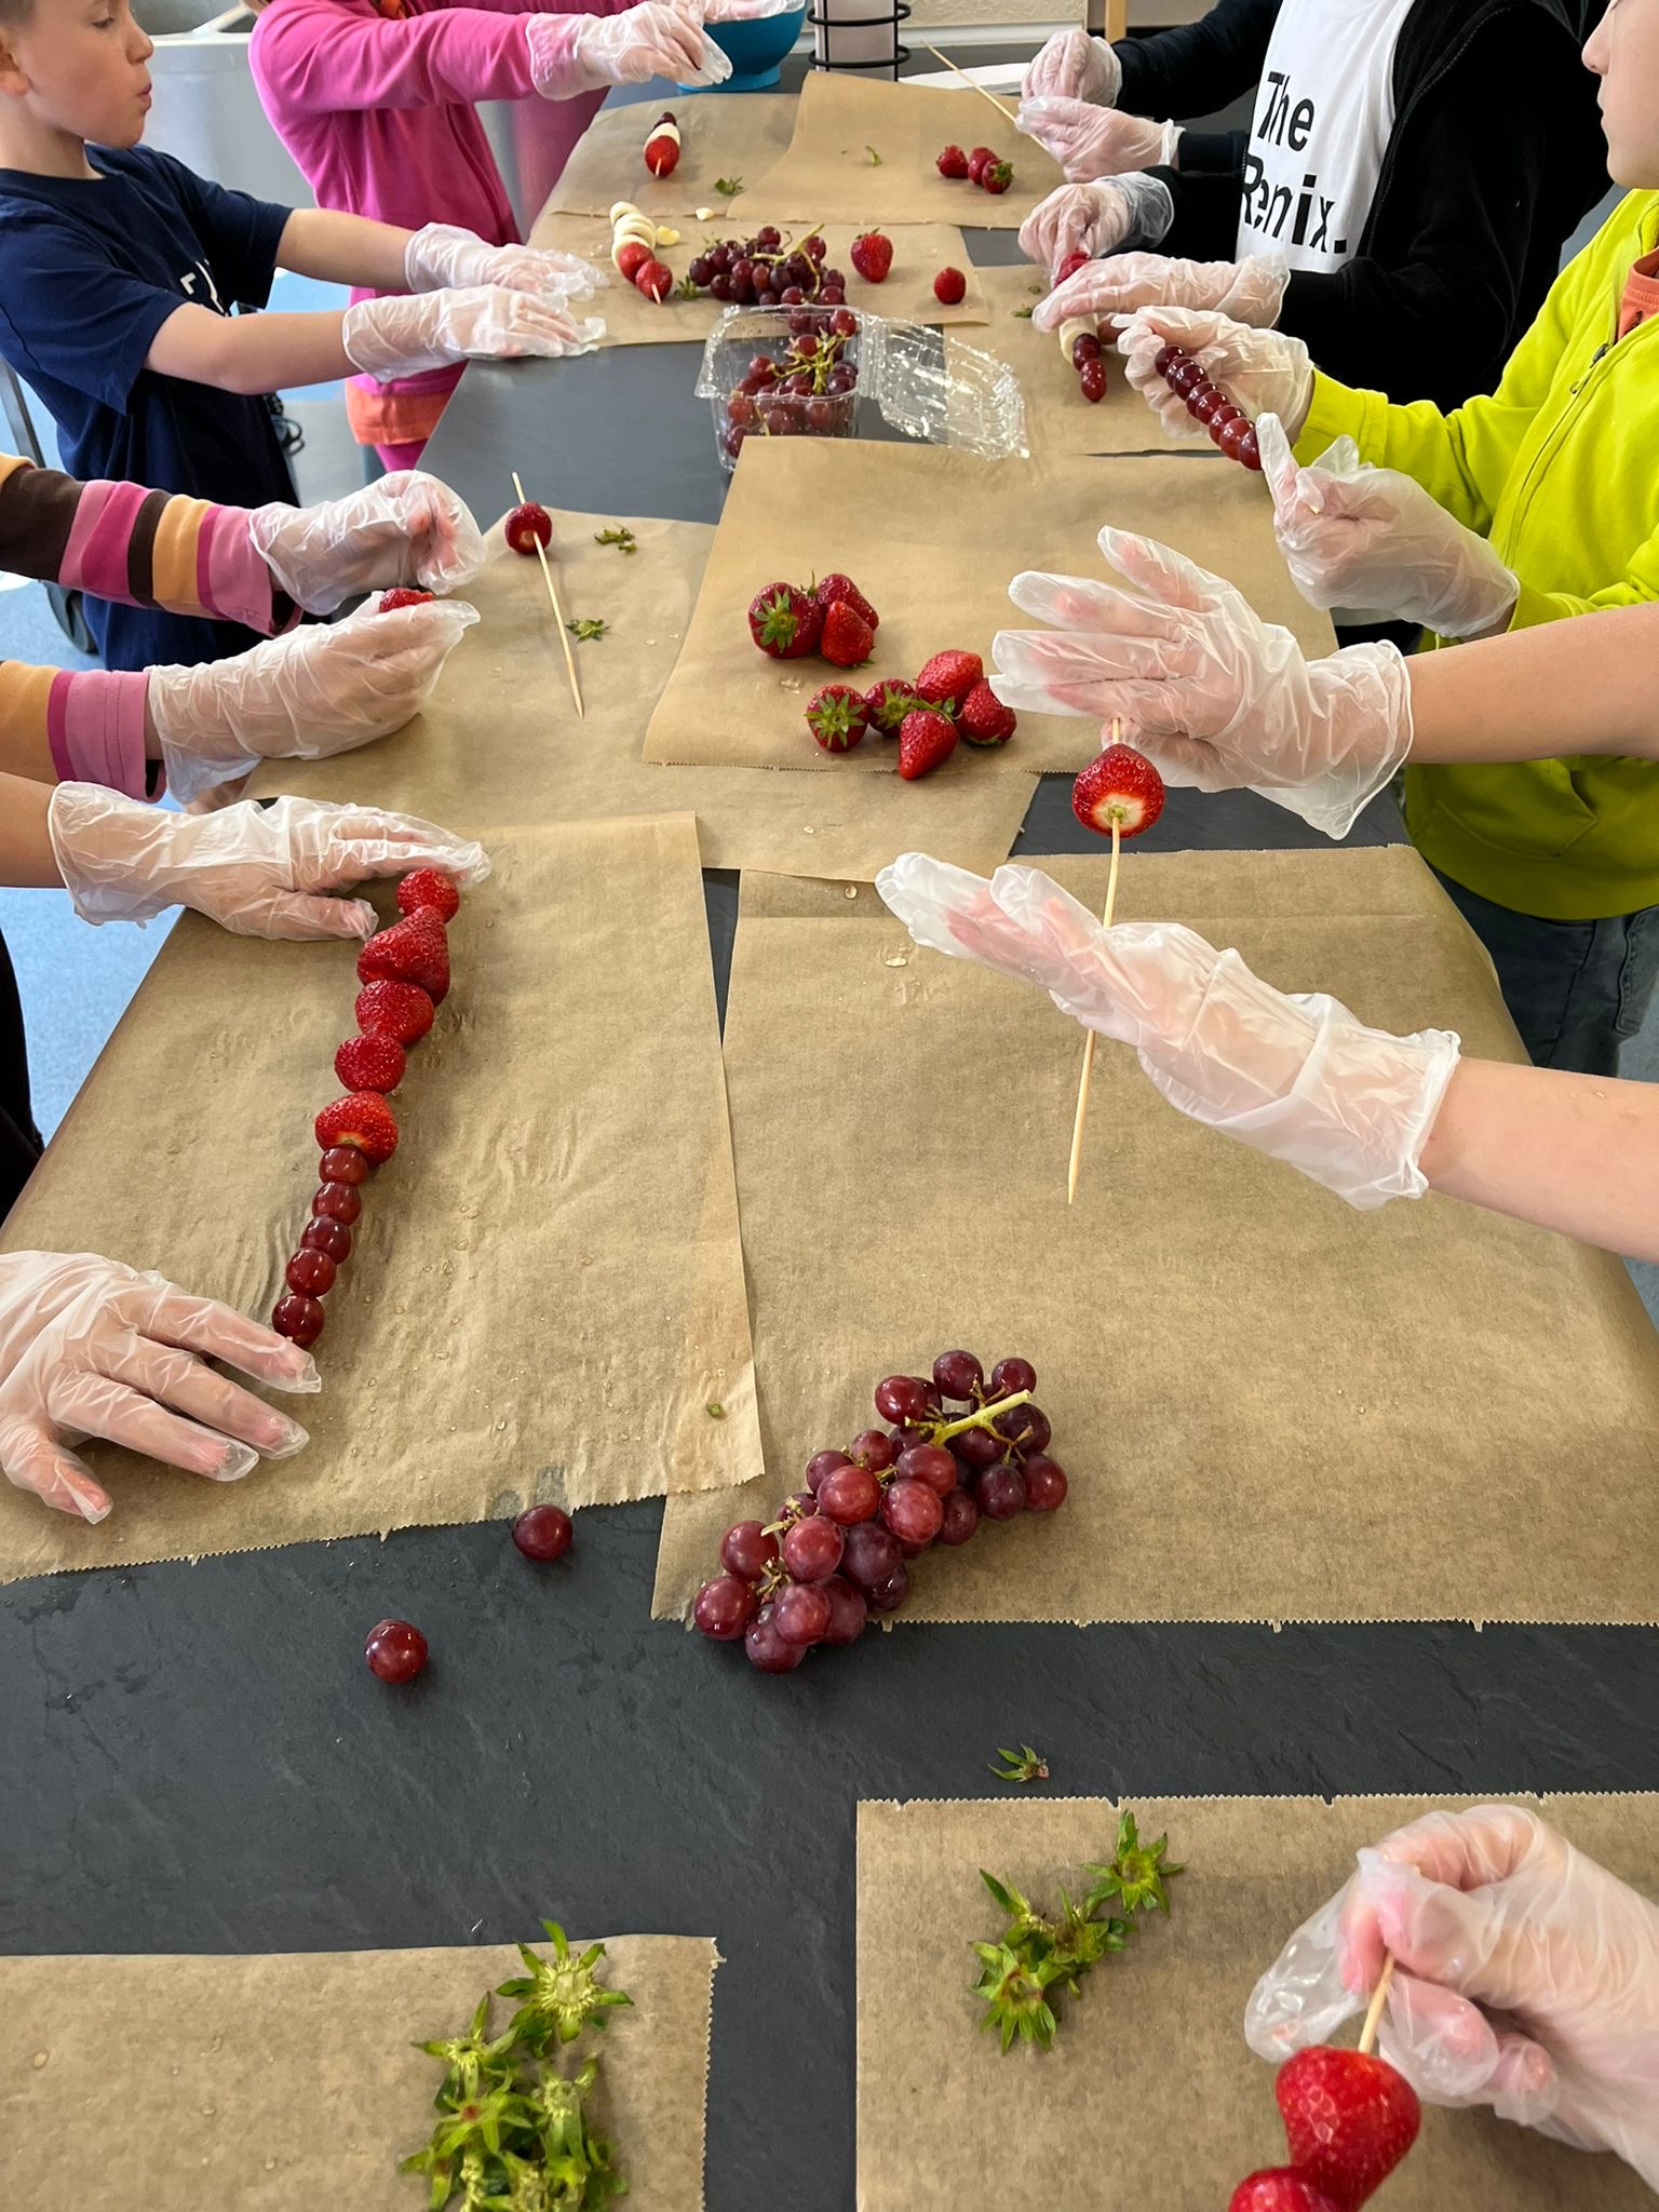
[[[1347,431],[1416,478],[1520,577],[1511,628],[1659,599],[1659,316],[1617,338],[1659,192],[1630,192],[1557,276],[1491,398],[1442,416],[1314,378],[1296,458]],[[1655,668],[1659,714],[1659,668]],[[1659,761],[1409,768],[1425,860],[1517,914],[1601,920],[1659,905]]]

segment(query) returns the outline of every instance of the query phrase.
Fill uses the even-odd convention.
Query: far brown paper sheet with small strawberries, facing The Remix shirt
[[[984,192],[967,177],[940,177],[936,161],[945,146],[962,153],[991,146],[1013,161],[1013,184],[1006,192]],[[869,159],[872,148],[880,166]],[[790,150],[776,168],[748,181],[754,204],[770,208],[774,221],[787,215],[792,221],[858,223],[860,230],[876,223],[1018,230],[1066,179],[1035,139],[1022,137],[989,100],[964,86],[945,91],[818,71],[801,86]]]

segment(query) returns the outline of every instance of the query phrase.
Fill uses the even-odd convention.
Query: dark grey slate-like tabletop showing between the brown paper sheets
[[[692,361],[469,369],[427,465],[480,513],[520,467],[568,507],[714,520]],[[1374,816],[1367,838],[1398,836]],[[1294,832],[1259,801],[1172,794],[1148,845]],[[1075,843],[1048,779],[1022,849]],[[723,995],[732,878],[708,909]],[[776,1683],[648,1619],[659,1515],[584,1513],[551,1571],[502,1526],[411,1528],[0,1590],[0,1949],[482,1944],[542,1913],[712,1933],[708,2203],[838,2212],[860,1796],[991,1792],[989,1750],[1020,1739],[1066,1794],[1659,1785],[1641,1630],[900,1626]],[[361,1661],[383,1615],[431,1644],[405,1692]],[[88,2212],[142,2201],[77,2190]],[[387,2208],[418,2201],[387,2177]]]

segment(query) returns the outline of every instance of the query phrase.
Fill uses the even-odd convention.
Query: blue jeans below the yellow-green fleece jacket
[[[1440,869],[1436,869],[1440,876]],[[1659,907],[1604,922],[1546,922],[1440,885],[1491,953],[1522,1044],[1540,1068],[1617,1075],[1659,980]]]

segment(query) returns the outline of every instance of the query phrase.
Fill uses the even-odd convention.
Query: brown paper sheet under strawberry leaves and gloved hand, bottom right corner
[[[1066,2000],[1053,2051],[978,2031],[969,1949],[998,1933],[980,1867],[1044,1902],[1110,1858],[1106,1798],[858,1807],[858,2208],[984,2201],[1011,2159],[1048,2212],[1217,2212],[1261,2166],[1285,2163],[1274,2068],[1243,2008],[1285,1940],[1354,1871],[1354,1851],[1431,1807],[1478,1798],[1130,1798],[1141,1836],[1168,1829],[1186,1874],[1170,1918],[1148,1913]],[[1646,1896],[1659,1896],[1659,1798],[1502,1792]],[[1358,2022],[1336,2042],[1358,2042]],[[1031,2201],[1037,2201],[1035,2197]],[[1378,2212],[1650,2212],[1610,2154],[1590,2157],[1491,2112],[1425,2106]]]

